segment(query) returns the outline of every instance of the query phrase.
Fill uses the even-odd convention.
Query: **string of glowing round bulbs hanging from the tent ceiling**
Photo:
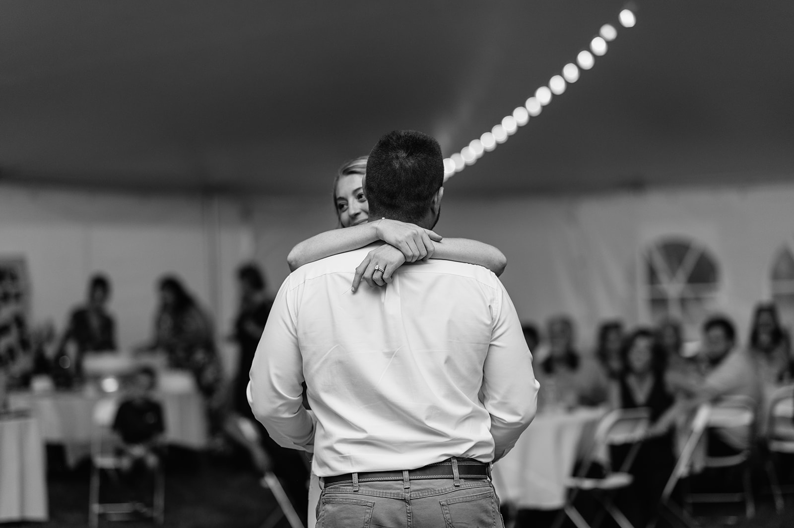
[[[624,28],[634,27],[637,22],[634,13],[628,9],[622,10],[618,18]],[[595,64],[595,57],[607,53],[607,42],[615,40],[616,36],[618,30],[615,26],[602,25],[598,36],[590,41],[590,50],[583,50],[576,55],[578,67],[574,63],[565,64],[562,75],[554,75],[550,78],[548,86],[541,86],[535,90],[535,94],[527,99],[523,106],[518,106],[511,115],[504,117],[501,123],[491,128],[490,132],[485,132],[479,139],[468,143],[460,152],[444,159],[444,181],[464,170],[466,166],[473,165],[485,152],[493,151],[499,143],[507,141],[508,137],[518,131],[518,127],[529,123],[530,117],[538,117],[554,95],[563,94],[567,85],[579,80],[581,70],[589,70]]]

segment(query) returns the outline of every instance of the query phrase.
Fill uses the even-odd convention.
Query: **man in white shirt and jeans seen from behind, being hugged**
[[[367,163],[370,218],[432,228],[443,175],[436,140],[388,133]],[[530,424],[538,393],[510,297],[484,267],[434,259],[353,294],[371,249],[284,281],[252,364],[254,414],[282,446],[314,452],[318,525],[502,526],[491,462]]]

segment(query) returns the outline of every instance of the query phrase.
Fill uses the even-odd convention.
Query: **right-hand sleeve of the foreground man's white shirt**
[[[529,427],[538,408],[538,380],[532,354],[526,346],[518,314],[499,282],[495,299],[495,323],[483,367],[483,404],[491,415],[494,461],[515,446]]]

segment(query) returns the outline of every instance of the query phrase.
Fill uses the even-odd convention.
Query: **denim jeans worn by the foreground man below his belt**
[[[491,480],[380,480],[326,486],[317,528],[504,528]]]

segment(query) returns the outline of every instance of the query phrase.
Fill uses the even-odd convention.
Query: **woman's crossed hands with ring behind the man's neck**
[[[356,268],[353,277],[353,292],[361,281],[368,285],[384,286],[391,282],[391,274],[406,262],[418,262],[432,258],[436,251],[434,242],[441,242],[441,235],[418,225],[399,220],[377,220],[373,222],[378,239],[384,245],[370,251]]]

